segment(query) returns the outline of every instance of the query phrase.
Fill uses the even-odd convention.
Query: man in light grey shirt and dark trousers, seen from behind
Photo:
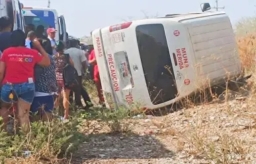
[[[70,48],[65,50],[64,53],[68,53],[71,59],[73,60],[74,67],[77,70],[77,81],[79,82],[79,88],[77,90],[74,90],[75,92],[75,104],[79,107],[83,107],[83,104],[81,102],[81,96],[83,97],[83,100],[85,101],[85,104],[87,107],[91,107],[91,99],[89,95],[87,94],[85,88],[83,88],[82,84],[82,73],[87,68],[86,64],[86,57],[83,50],[77,48],[77,40],[70,40]]]

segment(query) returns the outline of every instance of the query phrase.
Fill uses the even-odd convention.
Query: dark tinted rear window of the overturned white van
[[[152,103],[175,98],[177,88],[163,24],[137,26],[136,37]]]

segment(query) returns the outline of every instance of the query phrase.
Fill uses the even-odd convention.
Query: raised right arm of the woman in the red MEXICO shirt
[[[42,57],[40,55],[36,55],[36,63],[42,67],[48,67],[51,65],[50,58],[48,57],[48,53],[44,51],[44,48],[40,45],[38,40],[33,40],[33,46],[38,49],[39,53],[42,54]]]

